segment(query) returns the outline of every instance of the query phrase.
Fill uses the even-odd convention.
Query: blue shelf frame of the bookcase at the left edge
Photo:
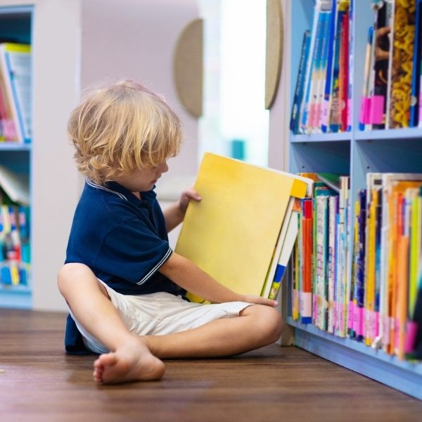
[[[33,13],[33,6],[0,6],[1,41],[32,44]],[[32,143],[1,141],[0,165],[23,176],[30,187],[32,180]],[[0,307],[31,309],[31,283],[29,286],[8,286],[0,281]]]

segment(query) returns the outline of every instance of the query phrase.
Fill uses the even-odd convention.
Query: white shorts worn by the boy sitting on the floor
[[[101,281],[101,280],[100,280]],[[103,283],[101,281],[101,283]],[[137,335],[165,335],[179,333],[215,321],[232,318],[250,306],[248,302],[225,302],[212,305],[187,302],[181,296],[171,293],[151,293],[149,295],[122,295],[105,283],[110,300],[117,308],[129,331]],[[95,353],[109,350],[100,341],[88,333],[77,321],[72,311],[70,316],[82,334],[84,345]]]

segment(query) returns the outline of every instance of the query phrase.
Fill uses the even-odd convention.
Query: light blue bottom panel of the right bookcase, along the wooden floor
[[[288,324],[295,328],[295,345],[298,347],[422,399],[422,364],[399,361],[382,350],[324,333],[310,324],[298,324],[290,317]]]

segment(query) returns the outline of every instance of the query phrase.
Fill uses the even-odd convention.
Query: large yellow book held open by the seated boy
[[[194,187],[203,199],[189,203],[175,252],[231,290],[260,295],[290,197],[304,198],[307,183],[205,153]]]

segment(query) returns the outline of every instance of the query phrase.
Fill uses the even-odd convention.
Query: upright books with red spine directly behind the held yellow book
[[[349,268],[349,177],[301,174],[314,180],[312,196],[296,202],[292,316],[345,337]]]

